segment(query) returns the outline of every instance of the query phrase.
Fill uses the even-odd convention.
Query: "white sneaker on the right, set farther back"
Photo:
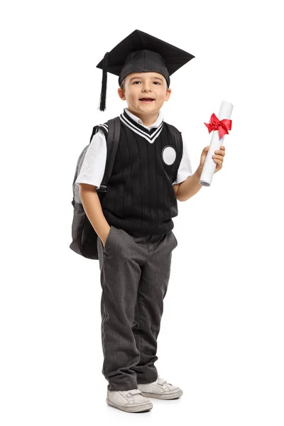
[[[178,386],[167,383],[163,378],[158,377],[156,381],[146,384],[138,384],[138,389],[144,396],[158,399],[175,399],[182,395],[182,390]]]

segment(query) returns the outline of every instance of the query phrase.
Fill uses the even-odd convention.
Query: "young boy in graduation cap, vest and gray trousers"
[[[99,236],[107,403],[127,412],[151,410],[149,397],[182,395],[180,388],[158,376],[154,363],[172,251],[178,244],[172,218],[178,215],[177,200],[188,200],[202,187],[209,146],[192,174],[186,145],[181,137],[173,138],[160,109],[170,98],[170,74],[192,58],[136,30],[97,65],[104,72],[101,110],[107,71],[119,75],[119,97],[128,108],[119,117],[119,147],[102,203],[97,187],[107,159],[107,123],[93,136],[76,183]],[[214,155],[217,170],[224,157],[220,148]]]

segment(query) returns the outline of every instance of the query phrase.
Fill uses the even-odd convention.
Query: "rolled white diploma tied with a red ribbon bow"
[[[212,114],[210,118],[210,123],[205,124],[207,126],[209,133],[213,131],[212,138],[210,142],[210,148],[206,155],[204,165],[202,168],[202,173],[200,176],[200,185],[210,186],[214,171],[216,168],[216,163],[212,158],[214,151],[220,149],[220,146],[224,145],[225,134],[228,134],[228,130],[231,130],[231,111],[233,111],[234,105],[230,102],[223,101],[219,109],[218,117],[215,114]]]

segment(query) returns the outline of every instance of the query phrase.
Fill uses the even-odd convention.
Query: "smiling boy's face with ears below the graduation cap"
[[[126,100],[129,111],[137,116],[154,116],[170,97],[165,77],[158,72],[131,72],[126,76],[124,90],[119,87],[119,97]],[[143,98],[152,101],[143,101]]]

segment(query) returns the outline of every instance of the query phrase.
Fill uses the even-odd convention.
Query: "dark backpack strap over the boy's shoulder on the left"
[[[117,148],[119,146],[119,137],[121,130],[119,116],[107,121],[107,127],[107,162],[106,168],[104,170],[104,177],[102,178],[102,183],[100,187],[97,188],[98,192],[107,192],[107,182],[109,182],[112,169],[114,168],[114,160],[116,158]]]

